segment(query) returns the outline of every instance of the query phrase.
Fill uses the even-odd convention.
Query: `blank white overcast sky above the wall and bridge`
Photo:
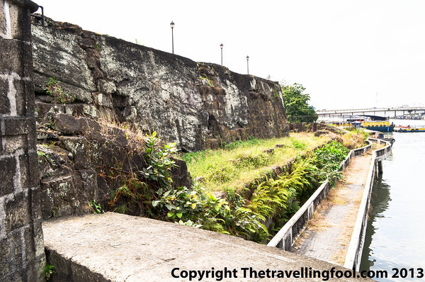
[[[424,0],[33,0],[45,15],[234,72],[297,82],[317,109],[425,106]]]

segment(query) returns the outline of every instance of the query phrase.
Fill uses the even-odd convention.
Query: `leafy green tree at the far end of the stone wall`
[[[318,116],[312,106],[309,94],[302,94],[305,88],[301,84],[283,85],[282,94],[286,115],[290,123],[313,123]]]

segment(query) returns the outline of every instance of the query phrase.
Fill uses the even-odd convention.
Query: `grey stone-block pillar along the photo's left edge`
[[[0,1],[0,281],[44,280],[30,30],[36,9],[32,1]]]

